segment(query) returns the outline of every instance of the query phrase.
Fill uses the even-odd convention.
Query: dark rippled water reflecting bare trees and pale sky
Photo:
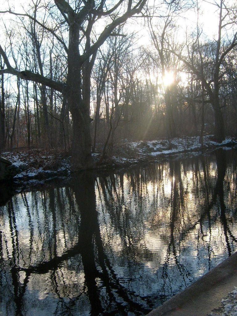
[[[233,151],[15,195],[0,208],[0,315],[144,315],[237,246]]]

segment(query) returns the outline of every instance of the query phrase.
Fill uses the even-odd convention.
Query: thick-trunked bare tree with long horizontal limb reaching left
[[[114,4],[105,0],[98,3],[88,0],[84,2],[76,1],[74,6],[71,6],[65,0],[54,0],[58,9],[57,12],[50,3],[47,6],[49,16],[53,17],[51,22],[55,23],[53,27],[48,27],[44,21],[39,21],[34,15],[34,10],[25,14],[14,13],[10,9],[1,11],[1,13],[24,16],[31,21],[35,21],[37,25],[42,27],[42,32],[51,33],[64,46],[68,63],[66,83],[53,81],[49,77],[28,69],[23,71],[15,69],[11,66],[2,46],[0,46],[0,54],[4,59],[6,68],[1,70],[0,74],[8,73],[20,76],[21,79],[38,82],[66,94],[73,120],[72,160],[76,167],[88,167],[92,163],[91,118],[88,104],[90,100],[90,74],[96,52],[118,25],[141,12],[146,1],[139,0],[133,3],[132,0],[129,0],[125,3],[125,0],[119,0]],[[59,12],[60,17],[58,16]],[[114,14],[112,15],[112,13]],[[102,17],[107,17],[106,26],[98,39],[93,42],[92,29],[98,25],[98,21]],[[57,32],[57,27],[60,29],[60,25],[64,24],[67,25],[69,31],[67,45],[62,34]]]

